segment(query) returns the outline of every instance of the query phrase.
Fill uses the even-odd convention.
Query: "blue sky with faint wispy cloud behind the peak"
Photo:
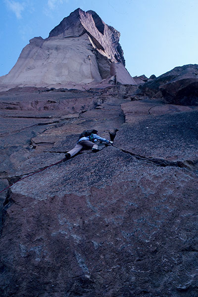
[[[0,76],[30,39],[47,38],[78,7],[96,11],[121,33],[132,76],[198,64],[198,0],[0,0]]]

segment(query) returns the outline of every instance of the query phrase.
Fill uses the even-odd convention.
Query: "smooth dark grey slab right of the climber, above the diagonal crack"
[[[148,115],[119,129],[114,146],[142,157],[182,161],[198,160],[198,111]]]

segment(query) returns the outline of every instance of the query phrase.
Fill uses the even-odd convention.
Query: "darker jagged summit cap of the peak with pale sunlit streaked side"
[[[58,26],[49,33],[49,37],[80,37],[87,33],[95,43],[96,49],[112,62],[121,62],[125,66],[123,50],[119,44],[120,32],[106,25],[99,15],[78,8],[65,17]]]

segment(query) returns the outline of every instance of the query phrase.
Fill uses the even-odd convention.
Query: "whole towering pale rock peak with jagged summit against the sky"
[[[49,37],[35,37],[11,71],[0,78],[0,89],[69,87],[114,83],[136,85],[125,68],[120,33],[92,10],[80,8],[64,18]]]

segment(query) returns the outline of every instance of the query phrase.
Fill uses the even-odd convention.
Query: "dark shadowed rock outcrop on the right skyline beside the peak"
[[[160,97],[167,103],[198,105],[198,65],[175,67],[152,81],[140,85],[139,89],[137,94]]]

